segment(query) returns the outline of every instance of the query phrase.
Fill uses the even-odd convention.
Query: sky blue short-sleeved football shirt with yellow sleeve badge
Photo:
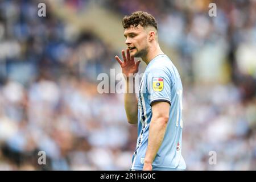
[[[138,139],[131,170],[142,170],[148,143],[148,131],[152,118],[151,104],[156,101],[170,103],[170,117],[166,134],[155,160],[153,170],[185,169],[181,156],[183,121],[183,87],[179,72],[166,55],[158,55],[148,63],[142,76],[138,94]]]

